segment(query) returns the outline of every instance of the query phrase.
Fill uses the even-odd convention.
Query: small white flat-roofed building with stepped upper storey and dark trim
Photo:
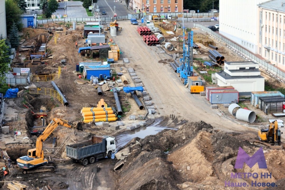
[[[264,78],[255,62],[225,62],[224,71],[216,73],[218,86],[233,86],[240,95],[264,91]]]

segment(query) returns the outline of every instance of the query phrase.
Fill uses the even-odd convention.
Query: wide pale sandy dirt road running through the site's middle
[[[135,69],[160,115],[174,114],[189,121],[204,120],[228,132],[254,130],[220,117],[218,110],[211,109],[204,96],[191,94],[185,88],[169,64],[159,63],[159,60],[170,59],[168,54],[160,53],[161,48],[147,46],[139,36],[137,26],[129,21],[120,21],[119,24],[123,31],[113,39],[124,52],[123,57],[129,58],[127,67]]]

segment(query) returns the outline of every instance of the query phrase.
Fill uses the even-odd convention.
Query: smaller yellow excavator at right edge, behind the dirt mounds
[[[258,131],[258,138],[260,141],[254,141],[253,144],[263,145],[271,149],[283,149],[283,146],[280,144],[281,134],[283,134],[283,132],[280,132],[278,122],[275,120],[270,123],[268,128],[260,129]]]

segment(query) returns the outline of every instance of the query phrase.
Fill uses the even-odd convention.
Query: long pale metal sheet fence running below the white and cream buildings
[[[261,60],[260,58],[255,56],[255,54],[252,54],[251,52],[247,51],[246,49],[242,48],[241,46],[238,46],[237,44],[231,42],[227,38],[224,38],[220,34],[213,32],[212,30],[210,30],[206,26],[194,23],[194,27],[200,28],[201,30],[208,32],[211,36],[215,37],[216,39],[218,39],[222,42],[225,42],[227,44],[227,46],[229,46],[233,50],[239,52],[240,54],[245,56],[247,59],[257,62],[261,68],[272,73],[273,75],[276,75],[277,77],[280,77],[282,80],[285,80],[285,72],[283,70],[280,70],[276,66],[274,66],[270,63],[267,63],[264,60]]]

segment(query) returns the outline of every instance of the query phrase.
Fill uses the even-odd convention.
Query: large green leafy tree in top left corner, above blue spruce
[[[18,30],[22,30],[23,24],[21,22],[22,11],[18,7],[17,3],[13,0],[5,0],[5,9],[6,9],[6,28],[7,33],[9,33],[13,23],[16,24]]]

